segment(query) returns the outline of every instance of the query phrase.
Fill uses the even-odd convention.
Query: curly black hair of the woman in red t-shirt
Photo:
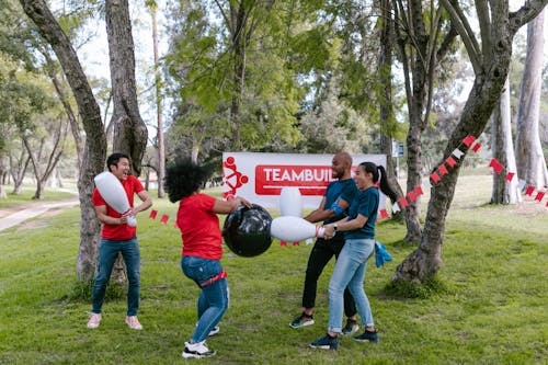
[[[191,159],[178,159],[165,169],[163,186],[170,202],[175,203],[198,191],[209,176],[210,171],[207,168],[192,162]]]

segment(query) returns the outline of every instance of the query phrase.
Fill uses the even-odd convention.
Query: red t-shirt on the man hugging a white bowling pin
[[[139,179],[134,175],[128,175],[126,180],[122,181],[122,186],[126,191],[127,199],[129,201],[129,206],[134,206],[134,194],[138,194],[145,190]],[[99,190],[95,187],[93,191],[93,196],[91,197],[93,206],[106,205],[106,215],[114,218],[119,218],[122,215],[114,210],[103,199]],[[101,237],[107,240],[114,241],[126,241],[135,236],[137,228],[130,227],[128,225],[103,225],[103,230]]]

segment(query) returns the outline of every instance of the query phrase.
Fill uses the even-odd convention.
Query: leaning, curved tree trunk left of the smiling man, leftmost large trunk
[[[62,32],[44,0],[20,0],[23,10],[38,27],[39,34],[52,45],[78,104],[85,130],[85,148],[78,191],[80,194],[80,248],[77,258],[77,277],[88,281],[95,274],[100,224],[91,203],[93,178],[103,171],[106,139],[101,110],[81,68],[69,38]]]

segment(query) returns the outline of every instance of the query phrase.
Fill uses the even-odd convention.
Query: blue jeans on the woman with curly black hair
[[[205,285],[208,280],[219,275],[222,271],[218,260],[183,256],[181,269],[202,288],[197,305],[198,322],[191,338],[192,342],[202,342],[207,339],[228,309],[228,282],[226,278],[219,278]]]

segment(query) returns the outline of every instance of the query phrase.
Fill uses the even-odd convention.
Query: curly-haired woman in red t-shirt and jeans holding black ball
[[[179,202],[176,225],[183,248],[181,269],[202,289],[197,303],[198,321],[189,342],[185,358],[215,355],[205,340],[218,332],[217,323],[228,308],[227,273],[220,264],[222,236],[218,214],[229,214],[240,205],[251,204],[241,197],[222,201],[201,192],[209,171],[191,160],[179,160],[165,171],[165,191],[170,202]]]

